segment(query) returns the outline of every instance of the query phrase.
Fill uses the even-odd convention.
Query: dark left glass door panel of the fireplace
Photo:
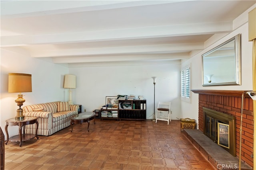
[[[206,135],[210,137],[214,142],[216,142],[216,125],[217,125],[217,120],[206,116]]]

